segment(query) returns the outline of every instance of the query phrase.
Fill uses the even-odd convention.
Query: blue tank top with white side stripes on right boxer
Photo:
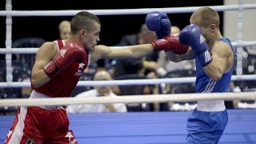
[[[220,38],[218,41],[227,42],[230,44],[230,47],[234,53],[233,46],[228,38]],[[233,66],[228,73],[222,75],[222,78],[215,82],[213,79],[208,77],[198,58],[195,58],[196,70],[197,70],[197,78],[195,82],[196,93],[218,93],[218,92],[226,92],[230,87],[230,79],[233,73]]]

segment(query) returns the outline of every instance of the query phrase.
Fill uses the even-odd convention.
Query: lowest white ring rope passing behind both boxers
[[[231,81],[253,81],[256,74],[233,75]],[[114,81],[79,81],[77,86],[129,86],[129,85],[160,85],[162,83],[191,83],[195,77],[158,78],[158,79],[126,79]],[[30,87],[30,82],[0,82],[0,87]]]

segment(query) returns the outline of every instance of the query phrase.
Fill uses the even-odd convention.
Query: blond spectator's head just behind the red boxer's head
[[[66,39],[70,37],[70,21],[62,21],[58,25],[59,38]]]

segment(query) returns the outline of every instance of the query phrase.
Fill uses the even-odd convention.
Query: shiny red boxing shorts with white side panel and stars
[[[58,106],[18,109],[16,118],[6,136],[7,143],[78,143],[69,130],[66,110]]]

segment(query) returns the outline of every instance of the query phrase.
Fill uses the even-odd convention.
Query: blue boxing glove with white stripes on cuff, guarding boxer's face
[[[186,26],[179,34],[179,42],[192,48],[202,66],[207,66],[212,62],[206,39],[197,25]]]

